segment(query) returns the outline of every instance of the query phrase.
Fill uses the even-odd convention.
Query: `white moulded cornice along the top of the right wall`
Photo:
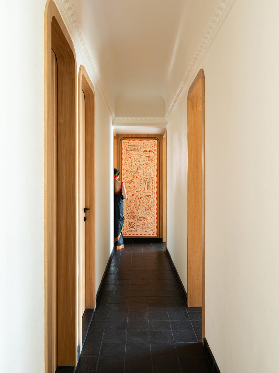
[[[202,35],[199,46],[196,49],[195,54],[182,78],[182,81],[180,82],[176,94],[174,95],[173,101],[171,102],[170,107],[167,110],[167,121],[170,120],[170,117],[178,106],[180,100],[182,99],[183,94],[189,89],[196,69],[202,62],[203,57],[208,51],[208,48],[211,46],[212,41],[214,40],[217,32],[225,21],[225,18],[227,17],[228,12],[230,12],[234,2],[235,0],[218,0],[214,11],[212,12],[211,18],[206,26],[206,29]]]

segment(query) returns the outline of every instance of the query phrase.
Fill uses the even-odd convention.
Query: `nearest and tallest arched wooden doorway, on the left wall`
[[[45,372],[53,373],[77,362],[77,78],[74,46],[52,0],[44,48]]]

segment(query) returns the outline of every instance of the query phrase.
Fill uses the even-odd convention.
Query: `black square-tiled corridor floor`
[[[114,253],[76,373],[208,373],[201,320],[163,244],[131,239]]]

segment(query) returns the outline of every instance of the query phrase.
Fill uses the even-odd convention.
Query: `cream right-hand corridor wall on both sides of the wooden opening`
[[[278,13],[276,1],[236,0],[199,66],[205,336],[222,373],[278,372]],[[167,247],[185,287],[186,105],[185,94],[167,126]]]

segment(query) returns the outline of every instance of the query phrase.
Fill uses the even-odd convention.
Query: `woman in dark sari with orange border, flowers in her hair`
[[[114,250],[124,247],[122,227],[124,223],[123,199],[126,200],[127,194],[124,183],[118,181],[119,171],[114,169]]]

